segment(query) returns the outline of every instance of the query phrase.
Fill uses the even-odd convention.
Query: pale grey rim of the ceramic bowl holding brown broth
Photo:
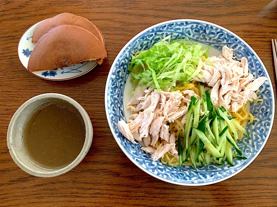
[[[37,170],[33,170],[32,168],[26,166],[24,164],[24,162],[22,162],[19,157],[18,154],[16,152],[16,149],[14,148],[14,146],[12,145],[12,136],[13,136],[13,128],[14,128],[14,124],[17,120],[17,118],[21,115],[21,113],[23,112],[23,110],[25,110],[25,108],[27,108],[30,104],[35,103],[38,100],[41,99],[48,99],[48,98],[58,98],[64,101],[68,101],[70,104],[72,104],[81,114],[84,123],[85,123],[85,128],[86,128],[86,137],[85,137],[85,141],[84,141],[84,145],[82,147],[81,152],[78,154],[78,156],[67,166],[58,169],[58,170],[49,170],[48,172],[41,172],[41,171],[37,171]],[[26,173],[29,173],[30,175],[34,175],[37,177],[55,177],[58,175],[62,175],[64,173],[67,173],[68,171],[72,170],[74,167],[76,167],[82,160],[83,158],[85,158],[87,152],[90,149],[91,143],[92,143],[92,138],[93,138],[93,127],[91,124],[91,120],[89,118],[89,115],[87,114],[87,112],[85,111],[85,109],[74,99],[63,95],[63,94],[59,94],[59,93],[44,93],[44,94],[40,94],[37,95],[35,97],[32,97],[31,99],[27,100],[24,104],[22,104],[14,113],[14,115],[12,116],[12,119],[10,121],[9,127],[8,127],[8,132],[7,132],[7,145],[8,145],[8,150],[10,152],[10,155],[12,157],[12,159],[14,160],[14,162],[18,165],[18,167],[20,167],[22,170],[24,170]]]

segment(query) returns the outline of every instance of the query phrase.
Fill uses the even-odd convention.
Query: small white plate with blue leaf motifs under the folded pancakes
[[[37,28],[39,24],[41,24],[42,22],[44,22],[47,19],[41,20],[41,21],[33,24],[32,26],[30,26],[22,34],[22,36],[18,42],[18,47],[17,47],[18,58],[19,58],[21,64],[24,66],[24,68],[26,68],[26,70],[27,70],[27,66],[28,66],[29,57],[31,55],[32,50],[35,47],[35,43],[32,43],[32,37],[33,37],[33,33],[35,31],[35,28]],[[104,41],[104,47],[105,47],[105,40],[104,40],[103,34],[101,33],[100,30],[99,30],[99,32]],[[73,66],[63,68],[63,70],[59,68],[58,70],[44,70],[44,71],[36,71],[36,72],[29,71],[29,72],[31,74],[38,76],[40,78],[43,78],[43,79],[53,80],[53,81],[63,81],[63,80],[68,80],[68,79],[72,79],[72,78],[81,76],[81,75],[89,72],[93,68],[95,68],[97,65],[98,65],[97,62],[87,61],[82,64],[77,63],[77,64],[74,64]]]

